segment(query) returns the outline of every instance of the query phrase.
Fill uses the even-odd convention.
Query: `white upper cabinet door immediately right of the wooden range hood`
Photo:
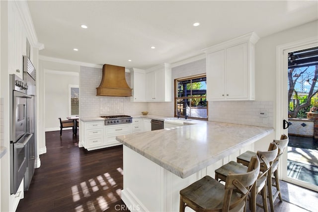
[[[145,73],[134,71],[133,76],[133,101],[145,101],[146,89],[145,89]]]

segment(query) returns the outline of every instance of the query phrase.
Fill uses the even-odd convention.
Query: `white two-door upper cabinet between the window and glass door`
[[[248,33],[209,47],[207,54],[207,100],[255,99],[255,48],[259,37]]]

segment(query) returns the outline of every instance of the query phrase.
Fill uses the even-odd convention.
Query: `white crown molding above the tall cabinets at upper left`
[[[36,36],[32,17],[26,0],[14,0],[13,2],[18,10],[23,25],[25,26],[26,35],[31,46],[38,48],[39,50],[44,49],[44,44],[40,43],[38,41],[38,37]]]

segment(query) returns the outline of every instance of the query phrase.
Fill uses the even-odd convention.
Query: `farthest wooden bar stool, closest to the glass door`
[[[283,155],[288,142],[289,138],[285,134],[281,135],[280,140],[274,140],[274,143],[278,146],[278,154],[277,157],[275,158],[271,172],[267,175],[267,186],[268,186],[268,199],[269,199],[269,205],[270,205],[270,210],[271,212],[274,212],[274,201],[276,200],[277,196],[279,197],[279,201],[282,202],[282,195],[280,192],[280,187],[279,187],[279,177],[278,177],[278,163],[279,163],[279,158]],[[246,151],[243,154],[239,155],[237,157],[237,162],[242,163],[244,165],[248,165],[249,163],[249,158],[256,153],[253,151]],[[275,178],[275,184],[272,183],[272,176]],[[276,188],[276,192],[273,195],[273,190],[272,186]]]

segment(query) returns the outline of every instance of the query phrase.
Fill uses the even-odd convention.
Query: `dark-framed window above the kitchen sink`
[[[208,120],[206,75],[175,79],[174,84],[174,116]]]

